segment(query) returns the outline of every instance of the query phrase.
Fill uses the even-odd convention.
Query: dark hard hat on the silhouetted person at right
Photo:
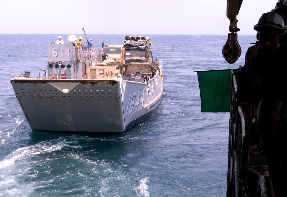
[[[282,16],[276,12],[267,12],[262,14],[258,24],[254,26],[254,29],[259,32],[262,27],[273,27],[283,31],[284,26],[284,20]]]

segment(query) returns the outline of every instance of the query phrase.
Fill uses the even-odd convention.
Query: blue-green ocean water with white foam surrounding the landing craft
[[[244,65],[255,35],[238,36],[243,54],[233,65],[222,57],[227,35],[144,35],[164,63],[160,111],[125,133],[105,135],[36,132],[24,117],[10,79],[46,69],[47,44],[58,36],[0,36],[1,197],[226,196],[229,113],[200,111],[194,71]],[[69,35],[61,36],[68,43]],[[88,38],[100,49],[125,36]]]

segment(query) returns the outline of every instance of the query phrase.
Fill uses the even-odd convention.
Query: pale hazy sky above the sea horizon
[[[0,0],[0,34],[229,33],[226,0]],[[243,0],[238,34],[255,35],[277,0]]]

